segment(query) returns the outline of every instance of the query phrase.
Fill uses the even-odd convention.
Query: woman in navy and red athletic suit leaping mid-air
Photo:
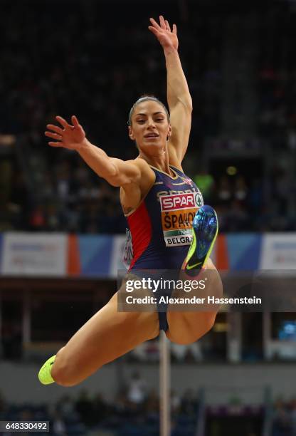
[[[218,232],[216,213],[203,206],[201,192],[181,167],[189,142],[192,101],[179,59],[176,25],[171,31],[163,16],[159,17],[159,24],[154,19],[150,21],[149,30],[164,49],[169,113],[163,103],[151,96],[134,103],[128,129],[139,150],[137,158],[122,161],[109,157],[90,144],[75,116],[71,118],[72,125],[56,117],[60,126],[48,125],[46,136],[56,141],[49,145],[76,150],[97,175],[120,187],[134,251],[129,271],[216,271],[208,259]],[[218,273],[211,289],[217,296],[221,294]],[[191,343],[211,329],[215,317],[216,310],[119,312],[115,294],[57,355],[44,363],[39,380],[43,384],[55,381],[63,386],[76,385],[105,363],[155,338],[160,329],[171,341]]]

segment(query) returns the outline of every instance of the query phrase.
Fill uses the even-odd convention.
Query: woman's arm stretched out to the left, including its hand
[[[56,120],[61,127],[53,124],[46,126],[48,128],[46,136],[56,140],[56,142],[48,142],[48,145],[76,150],[88,166],[112,186],[119,187],[139,180],[141,177],[139,166],[133,161],[109,157],[104,150],[91,144],[75,115],[71,118],[72,125],[59,116]]]

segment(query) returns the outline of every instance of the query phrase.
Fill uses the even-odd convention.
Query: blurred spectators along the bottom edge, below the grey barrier
[[[230,432],[231,416],[248,417],[247,427],[250,430],[245,428],[244,435],[253,436],[259,434],[254,430],[253,419],[258,414],[264,416],[265,406],[262,404],[255,408],[239,398],[229,397],[223,408],[208,407],[206,414],[212,415],[212,430],[215,415],[224,416],[224,419],[229,415]],[[186,390],[182,395],[171,391],[171,436],[195,435],[200,407],[199,395],[194,390]],[[295,398],[278,398],[272,405],[271,413],[270,436],[295,435]],[[49,421],[53,436],[152,436],[159,431],[159,395],[149,390],[142,375],[135,372],[127,386],[112,400],[107,400],[100,392],[90,395],[88,390],[81,389],[78,395],[64,394],[51,404],[33,405],[28,402],[16,405],[6,402],[0,394],[0,417],[7,421]]]

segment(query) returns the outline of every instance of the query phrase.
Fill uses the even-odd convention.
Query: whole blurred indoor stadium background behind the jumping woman
[[[166,100],[149,16],[176,22],[194,102],[184,168],[216,207],[221,269],[295,269],[296,61],[292,1],[11,1],[0,4],[1,420],[51,420],[52,435],[158,435],[159,343],[75,388],[38,368],[104,305],[122,268],[118,192],[43,137],[78,116],[129,159],[129,108]],[[220,313],[171,345],[173,436],[296,434],[295,313]]]

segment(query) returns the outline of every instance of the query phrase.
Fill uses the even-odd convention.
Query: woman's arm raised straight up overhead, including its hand
[[[181,162],[187,150],[190,128],[192,99],[178,53],[179,41],[176,24],[173,28],[164,17],[159,16],[159,24],[150,19],[149,30],[154,33],[164,49],[167,73],[167,103],[171,121],[171,139],[169,144],[176,150],[176,157]]]

